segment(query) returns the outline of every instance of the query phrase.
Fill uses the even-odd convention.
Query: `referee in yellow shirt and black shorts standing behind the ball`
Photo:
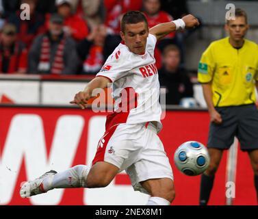
[[[211,160],[201,177],[200,205],[207,205],[222,153],[235,136],[250,157],[258,200],[258,46],[244,38],[248,30],[244,10],[237,8],[235,20],[227,21],[225,29],[229,37],[212,42],[198,65],[211,118],[207,144]]]

